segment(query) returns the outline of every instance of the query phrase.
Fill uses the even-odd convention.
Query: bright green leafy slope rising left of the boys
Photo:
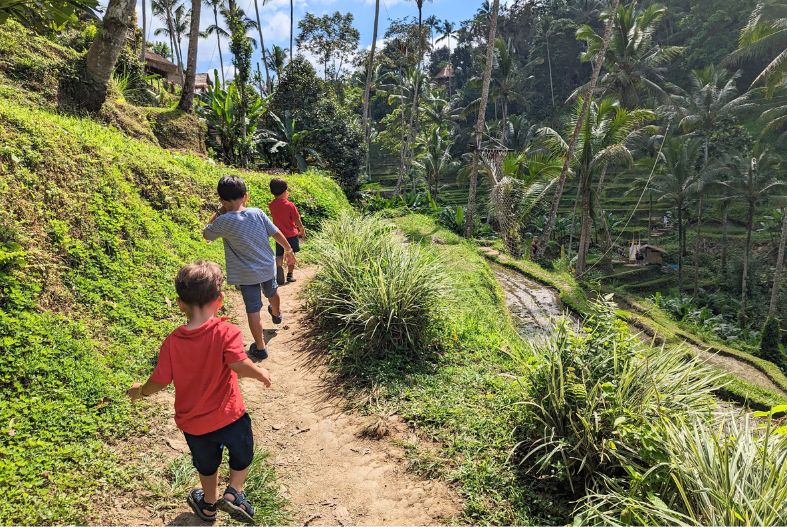
[[[156,412],[124,390],[181,321],[176,270],[223,262],[201,228],[225,173],[240,172],[0,98],[0,523],[88,523],[94,493],[135,484],[107,443]],[[269,178],[242,175],[264,207]],[[309,227],[348,207],[327,178],[289,181]]]

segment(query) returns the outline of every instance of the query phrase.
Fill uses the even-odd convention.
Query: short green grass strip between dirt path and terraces
[[[570,507],[561,492],[531,484],[533,480],[523,478],[509,460],[516,445],[512,431],[521,423],[523,411],[515,404],[522,399],[522,386],[509,375],[517,364],[512,355],[527,351],[491,269],[474,245],[439,229],[425,216],[394,221],[411,243],[423,242],[419,251],[433,252],[442,262],[443,272],[449,275],[445,311],[433,334],[434,346],[417,346],[402,354],[389,351],[389,356],[365,359],[362,368],[350,362],[350,374],[342,378],[344,386],[362,395],[358,400],[364,411],[381,416],[396,413],[427,439],[404,445],[411,468],[458,484],[465,503],[460,521],[567,521]],[[439,243],[433,243],[432,235]],[[344,238],[336,243],[344,243]],[[432,259],[425,256],[424,261]],[[355,265],[355,259],[347,263]],[[392,267],[385,272],[395,272],[396,266]],[[316,281],[320,280],[318,274]],[[382,291],[380,298],[385,298]],[[397,324],[404,323],[394,316]],[[350,350],[339,351],[334,357],[342,361]],[[338,367],[346,373],[342,365]],[[429,440],[439,447],[432,448]]]

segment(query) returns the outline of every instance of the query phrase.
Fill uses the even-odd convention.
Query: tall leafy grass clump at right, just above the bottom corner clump
[[[663,423],[711,417],[718,377],[675,350],[641,343],[609,299],[581,331],[567,322],[533,346],[523,464],[575,494],[604,476],[642,474],[664,458]],[[532,360],[532,359],[531,359]]]

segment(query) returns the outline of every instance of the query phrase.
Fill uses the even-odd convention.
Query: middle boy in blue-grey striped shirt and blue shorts
[[[294,266],[295,253],[287,238],[279,232],[268,216],[257,208],[246,208],[249,194],[246,183],[237,176],[224,176],[218,185],[221,207],[202,231],[208,241],[224,241],[227,283],[238,286],[246,304],[249,329],[254,342],[249,355],[268,357],[263,337],[262,295],[270,301],[268,313],[274,324],[281,324],[281,300],[276,284],[276,257],[268,239],[284,247],[284,258]]]

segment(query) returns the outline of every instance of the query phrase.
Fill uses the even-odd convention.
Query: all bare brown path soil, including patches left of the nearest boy
[[[360,416],[335,394],[332,377],[320,355],[306,351],[308,327],[299,312],[300,292],[314,270],[296,270],[298,279],[280,288],[284,323],[275,334],[266,331],[273,386],[265,389],[241,381],[252,417],[255,444],[270,452],[281,491],[291,502],[292,523],[298,525],[429,525],[445,524],[461,511],[457,493],[445,482],[424,480],[407,472],[404,451],[395,439],[415,436],[399,421]],[[245,325],[243,302],[231,293],[234,315],[252,342]],[[268,321],[268,327],[271,327]],[[150,460],[156,466],[188,453],[172,421],[170,393],[155,396],[166,416],[153,423],[141,445],[120,445],[126,457]],[[367,438],[370,429],[383,430],[384,439]],[[429,446],[429,445],[425,445]],[[131,453],[129,454],[128,451]],[[185,497],[185,496],[184,496]],[[139,496],[118,496],[97,507],[102,524],[201,524],[182,506],[156,510],[141,506]],[[142,502],[144,505],[144,501]],[[177,501],[175,503],[178,503]],[[222,518],[224,515],[221,516]]]

